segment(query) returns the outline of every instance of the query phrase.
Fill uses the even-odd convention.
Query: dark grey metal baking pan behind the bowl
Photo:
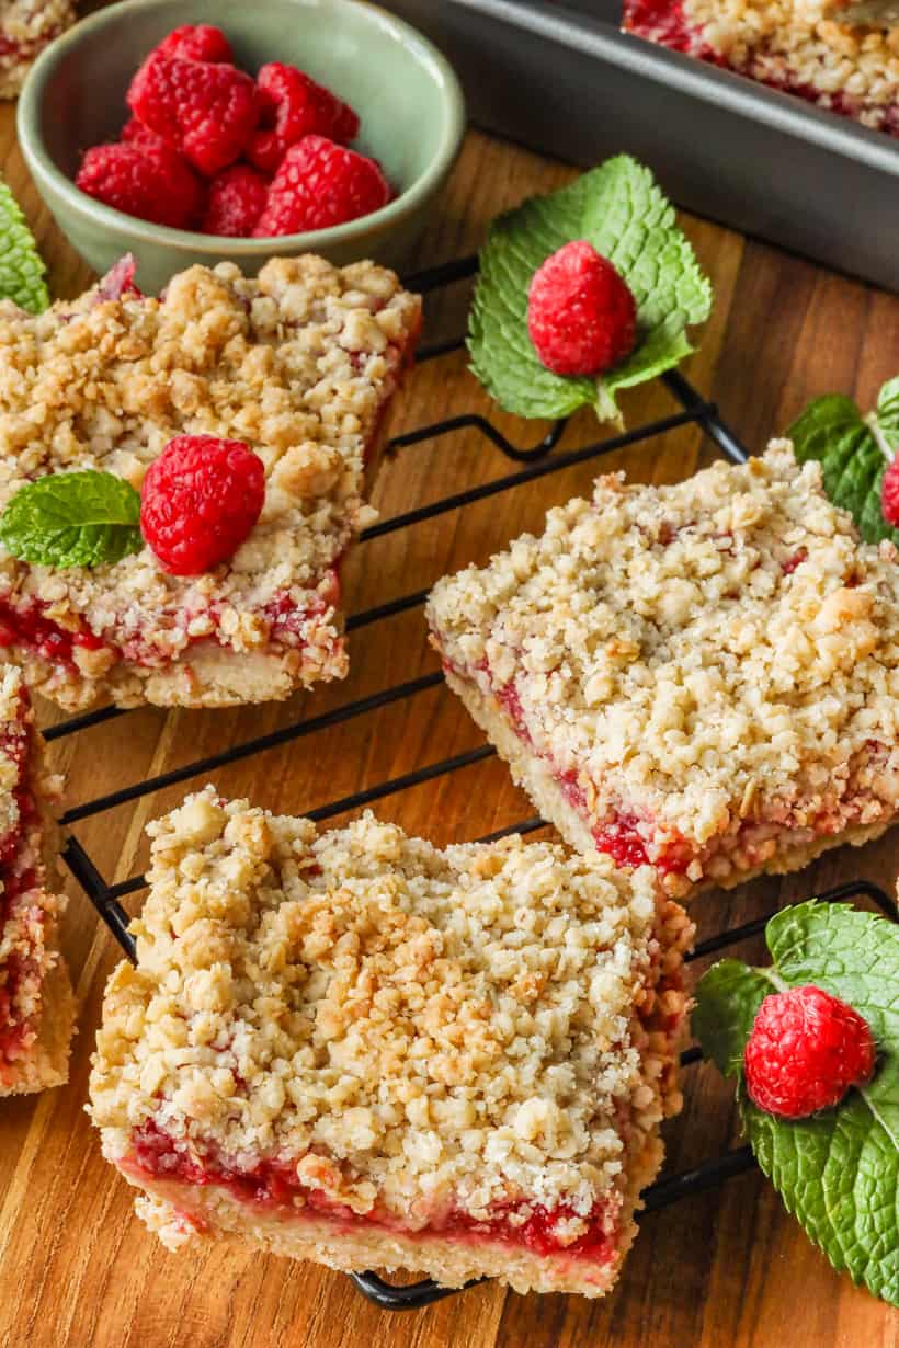
[[[627,150],[687,210],[899,291],[899,140],[619,31],[620,0],[381,0],[473,121],[570,163]]]

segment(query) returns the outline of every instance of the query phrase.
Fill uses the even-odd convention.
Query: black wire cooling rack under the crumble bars
[[[439,267],[431,267],[414,276],[408,276],[406,279],[406,284],[410,290],[429,294],[450,286],[454,282],[469,279],[474,275],[476,270],[476,257],[462,257]],[[462,345],[464,338],[461,337],[425,345],[418,352],[418,363],[421,364],[423,361],[439,360],[442,356],[457,352]],[[430,506],[422,506],[416,510],[410,510],[402,515],[396,515],[392,519],[381,520],[365,530],[360,542],[377,538],[381,534],[391,534],[399,528],[407,528],[412,524],[421,523],[422,520],[447,514],[449,511],[464,510],[473,501],[484,500],[489,496],[497,495],[499,492],[509,491],[523,483],[534,481],[538,477],[561,472],[565,468],[571,468],[576,464],[584,464],[590,460],[601,458],[604,454],[609,454],[613,450],[623,449],[628,445],[648,445],[656,437],[663,435],[679,426],[693,425],[698,427],[720,453],[725,454],[735,462],[744,462],[748,458],[747,449],[721,419],[718,410],[713,403],[706,402],[687,383],[687,380],[677,372],[664,375],[663,380],[675,402],[679,404],[679,411],[673,412],[670,417],[648,422],[643,426],[635,427],[633,430],[624,431],[619,435],[611,435],[605,439],[586,445],[582,449],[570,452],[558,450],[559,442],[565,435],[565,421],[555,422],[543,439],[532,446],[512,443],[487,418],[473,412],[450,417],[443,421],[434,422],[433,425],[422,426],[418,430],[407,431],[403,435],[398,435],[390,446],[394,452],[407,449],[423,441],[438,439],[456,431],[474,430],[500,449],[508,460],[522,466],[519,466],[515,472],[505,473],[504,476],[496,477],[478,487],[472,487],[464,492],[456,492],[454,495],[446,496]],[[381,619],[392,617],[396,613],[406,612],[407,609],[418,608],[425,603],[426,597],[427,590],[421,589],[410,594],[404,594],[402,599],[392,600],[388,604],[380,604],[375,608],[365,609],[361,613],[354,613],[348,619],[346,630],[350,632],[359,631],[360,628],[371,627]],[[365,716],[379,708],[390,706],[394,702],[402,702],[406,698],[411,698],[426,692],[427,689],[437,687],[442,683],[442,681],[443,675],[439,671],[423,674],[419,678],[398,683],[392,687],[383,689],[379,693],[348,702],[344,706],[334,708],[321,716],[307,717],[306,720],[284,725],[270,735],[261,735],[244,740],[240,744],[232,744],[218,754],[197,759],[193,763],[174,768],[170,772],[162,772],[156,776],[144,778],[143,780],[135,782],[117,791],[100,795],[92,801],[84,801],[82,803],[66,810],[66,813],[61,817],[59,824],[63,829],[67,829],[80,820],[104,814],[106,810],[112,810],[129,801],[136,801],[154,791],[179,785],[190,778],[202,778],[226,764],[237,763],[241,759],[252,758],[256,754],[263,754],[267,749],[291,743],[292,740],[303,739],[305,736],[314,735],[318,731],[329,729],[330,727],[340,725],[344,721],[354,720],[356,717]],[[119,708],[101,708],[100,710],[88,712],[84,716],[75,716],[67,721],[53,725],[47,728],[43,735],[49,741],[61,740],[71,735],[78,735],[80,732],[93,725],[98,725],[102,721],[127,714],[127,710]],[[437,763],[419,767],[412,772],[403,774],[402,776],[391,778],[387,782],[380,782],[363,791],[346,795],[342,799],[319,805],[317,809],[307,810],[306,816],[315,822],[322,822],[323,820],[342,814],[346,810],[360,809],[375,801],[383,799],[384,797],[406,791],[423,782],[430,782],[450,772],[456,772],[469,764],[491,758],[493,754],[495,749],[485,744],[465,754],[457,754],[453,758],[446,758]],[[509,833],[532,833],[535,829],[543,826],[545,821],[542,818],[531,817],[522,820],[519,824],[509,825],[508,828],[497,829],[495,833],[487,834],[487,837],[480,841],[495,841]],[[124,953],[129,960],[133,960],[135,941],[128,931],[129,917],[121,906],[120,899],[142,890],[146,883],[144,876],[136,875],[117,884],[109,884],[100,874],[82,844],[71,834],[66,837],[62,856],[73,876],[81,884]],[[818,898],[828,902],[867,898],[887,917],[895,918],[895,907],[890,896],[876,884],[871,884],[867,880],[842,884],[837,888],[819,894]],[[764,918],[748,922],[744,926],[721,931],[717,936],[710,937],[708,941],[702,941],[697,945],[689,958],[697,960],[702,956],[713,954],[735,945],[739,941],[757,936],[764,930],[768,917],[770,914]],[[682,1054],[681,1062],[683,1066],[689,1066],[698,1062],[700,1058],[700,1049],[691,1047]],[[725,1151],[722,1155],[705,1161],[695,1169],[662,1178],[656,1184],[651,1185],[643,1196],[643,1211],[648,1213],[656,1212],[660,1208],[667,1208],[670,1204],[678,1202],[681,1198],[712,1189],[722,1184],[725,1180],[729,1180],[732,1175],[743,1174],[745,1170],[752,1169],[753,1165],[755,1161],[749,1147],[736,1147]],[[372,1273],[353,1274],[352,1277],[363,1295],[384,1310],[414,1310],[421,1306],[427,1306],[431,1302],[441,1301],[443,1297],[454,1295],[457,1290],[462,1290],[439,1287],[430,1279],[406,1286],[395,1286],[384,1282]]]

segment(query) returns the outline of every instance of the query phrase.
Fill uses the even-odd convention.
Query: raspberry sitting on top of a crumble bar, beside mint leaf
[[[239,439],[178,435],[147,469],[144,539],[173,576],[199,576],[235,555],[259,519],[266,469]]]

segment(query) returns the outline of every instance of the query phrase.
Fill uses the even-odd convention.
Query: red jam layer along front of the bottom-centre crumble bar
[[[395,1217],[375,1208],[369,1213],[352,1212],[344,1204],[297,1175],[295,1162],[263,1159],[251,1169],[237,1170],[212,1154],[187,1153],[164,1130],[147,1120],[132,1134],[132,1150],[124,1163],[136,1178],[175,1180],[182,1184],[216,1185],[226,1189],[239,1202],[266,1211],[284,1211],[291,1217],[306,1212],[341,1227],[380,1227],[406,1236],[452,1236],[457,1240],[499,1240],[523,1247],[545,1258],[565,1255],[596,1264],[608,1264],[617,1252],[615,1198],[601,1198],[580,1217],[567,1204],[547,1209],[515,1200],[495,1206],[488,1221],[478,1221],[468,1212],[450,1208],[426,1227],[404,1228]],[[302,1204],[295,1200],[302,1198]],[[298,1211],[299,1209],[299,1211]],[[566,1233],[571,1221],[586,1223],[586,1231],[574,1240]]]

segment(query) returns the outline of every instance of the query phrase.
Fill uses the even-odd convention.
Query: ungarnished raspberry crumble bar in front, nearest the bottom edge
[[[691,926],[652,871],[318,833],[212,787],[150,832],[90,1078],[150,1228],[607,1291],[681,1104]]]

